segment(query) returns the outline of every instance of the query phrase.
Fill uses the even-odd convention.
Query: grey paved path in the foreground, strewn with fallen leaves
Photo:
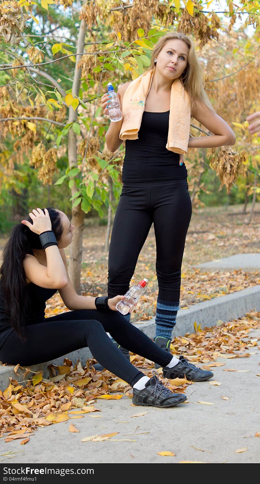
[[[250,336],[260,338],[260,330],[252,331]],[[218,361],[224,362],[225,366],[213,370],[214,380],[220,381],[221,386],[212,386],[209,382],[189,385],[186,391],[189,403],[160,409],[132,407],[131,399],[126,396],[117,401],[97,400],[96,407],[102,409],[102,413],[87,414],[82,419],[39,429],[24,446],[18,441],[5,443],[1,439],[0,454],[8,451],[23,452],[0,462],[6,465],[98,462],[169,464],[186,460],[259,463],[260,438],[254,436],[260,432],[260,377],[257,376],[260,374],[260,350],[257,347],[250,349],[256,351],[256,354],[249,358],[219,358]],[[242,372],[223,371],[227,368]],[[229,397],[229,400],[223,400],[222,395]],[[198,401],[214,405],[203,405]],[[142,411],[148,413],[132,418],[132,415]],[[71,422],[80,433],[68,432]],[[112,432],[119,432],[112,439],[135,441],[111,439],[81,442],[83,437]],[[246,452],[234,453],[243,447],[248,448]],[[157,455],[162,451],[171,451],[176,456]]]

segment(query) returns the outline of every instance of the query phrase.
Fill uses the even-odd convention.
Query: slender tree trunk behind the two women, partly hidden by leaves
[[[86,33],[86,24],[84,20],[81,21],[79,37],[77,43],[77,54],[84,50],[84,39]],[[78,63],[82,56],[76,56],[76,65],[74,71],[74,78],[72,84],[73,97],[79,96],[81,69],[78,69]],[[75,122],[78,118],[78,110],[69,106],[68,122]],[[77,157],[77,135],[73,129],[68,132],[68,163],[69,167],[78,166]],[[76,183],[71,187],[71,196],[77,191]],[[73,203],[73,202],[72,202]],[[70,260],[69,260],[69,277],[78,294],[81,293],[81,261],[82,261],[82,242],[83,242],[83,228],[84,228],[84,212],[82,211],[81,204],[72,208],[72,225],[75,229],[73,232],[73,239],[70,245]]]

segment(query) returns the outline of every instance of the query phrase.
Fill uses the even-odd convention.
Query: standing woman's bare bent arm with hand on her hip
[[[192,111],[192,117],[214,135],[190,138],[189,148],[217,148],[235,144],[235,135],[226,121],[210,111],[204,103],[197,103]]]

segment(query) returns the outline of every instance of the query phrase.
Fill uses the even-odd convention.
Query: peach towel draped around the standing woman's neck
[[[120,139],[138,139],[146,97],[151,88],[153,69],[137,77],[129,84],[123,96],[123,123]],[[169,131],[166,148],[186,154],[190,137],[191,103],[189,94],[179,79],[171,87]]]

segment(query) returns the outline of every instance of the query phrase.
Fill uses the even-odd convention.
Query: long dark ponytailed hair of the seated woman
[[[47,210],[52,230],[59,242],[63,230],[60,212],[52,207]],[[26,220],[32,224],[30,217]],[[0,289],[5,302],[5,312],[11,327],[23,340],[27,335],[27,318],[30,310],[23,260],[27,254],[33,254],[32,249],[41,249],[39,235],[24,224],[16,225],[3,250],[0,268]]]

